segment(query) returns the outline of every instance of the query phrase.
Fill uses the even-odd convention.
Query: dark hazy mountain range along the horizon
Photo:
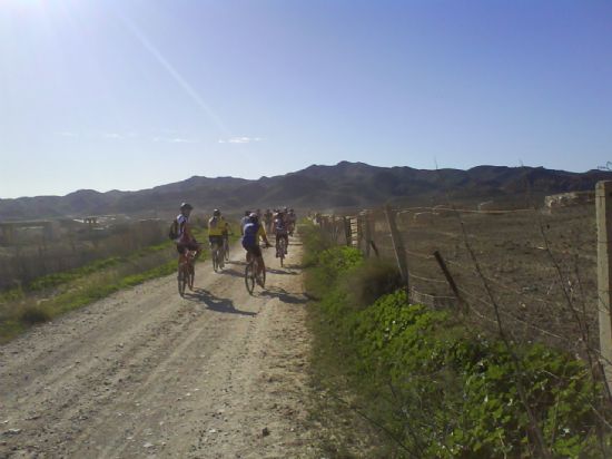
[[[197,209],[226,212],[293,206],[300,209],[372,207],[386,202],[440,204],[448,199],[531,199],[570,191],[592,191],[612,179],[612,172],[571,173],[543,167],[477,166],[460,169],[377,167],[342,162],[313,165],[303,170],[256,180],[194,176],[182,182],[138,192],[99,193],[81,189],[66,196],[0,199],[0,219],[34,219],[107,214],[151,215],[176,212],[181,202]]]

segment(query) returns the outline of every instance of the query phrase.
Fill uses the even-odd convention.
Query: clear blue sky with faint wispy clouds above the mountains
[[[612,2],[0,0],[0,197],[612,160]]]

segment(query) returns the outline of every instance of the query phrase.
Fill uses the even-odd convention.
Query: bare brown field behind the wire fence
[[[502,325],[516,342],[545,342],[576,354],[599,349],[592,203],[513,211],[375,208],[317,215],[317,223],[366,256],[403,258],[413,303],[465,309],[467,321]],[[397,228],[395,244],[391,225]]]

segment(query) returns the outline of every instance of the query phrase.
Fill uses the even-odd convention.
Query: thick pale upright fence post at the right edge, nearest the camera
[[[608,387],[612,387],[612,180],[595,186],[598,217],[598,310],[600,350]]]

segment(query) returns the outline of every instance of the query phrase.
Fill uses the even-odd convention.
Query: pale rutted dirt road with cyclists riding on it
[[[255,296],[236,247],[0,346],[0,457],[313,457],[300,248]]]

